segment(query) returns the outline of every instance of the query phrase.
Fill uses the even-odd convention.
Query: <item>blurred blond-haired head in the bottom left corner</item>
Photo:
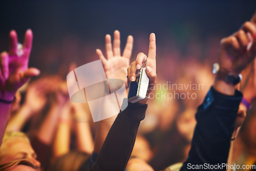
[[[18,159],[29,159],[36,168],[40,168],[40,162],[36,160],[37,156],[31,144],[24,138],[15,137],[6,140],[2,144],[1,151],[2,158],[0,160],[0,164],[8,163]],[[20,165],[18,167],[25,166]],[[20,168],[20,170],[22,170],[22,168]]]

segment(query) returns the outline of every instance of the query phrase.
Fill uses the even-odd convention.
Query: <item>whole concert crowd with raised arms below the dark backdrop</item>
[[[216,75],[212,60],[179,59],[175,51],[157,65],[154,33],[148,54],[133,62],[133,36],[121,53],[120,32],[113,44],[106,35],[105,53],[96,50],[106,78],[123,80],[128,90],[147,61],[150,83],[147,98],[98,122],[88,103],[70,100],[63,76],[76,63],[40,76],[43,71],[28,68],[32,31],[23,45],[14,30],[9,37],[9,50],[0,56],[0,170],[200,170],[222,163],[256,169],[256,13],[221,39],[219,54],[213,52]],[[226,169],[233,168],[201,170]]]

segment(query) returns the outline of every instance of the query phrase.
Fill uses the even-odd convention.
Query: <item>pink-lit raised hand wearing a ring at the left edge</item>
[[[18,88],[30,77],[40,74],[38,69],[28,68],[32,31],[30,29],[26,31],[22,46],[18,44],[17,33],[14,30],[10,32],[9,39],[9,52],[2,52],[0,56],[1,98],[5,100],[12,100]]]

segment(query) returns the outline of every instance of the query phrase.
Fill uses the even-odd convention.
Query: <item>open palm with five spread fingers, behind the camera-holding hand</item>
[[[124,48],[123,54],[121,56],[120,50],[120,32],[116,30],[114,32],[114,42],[113,42],[113,50],[111,44],[111,36],[109,34],[105,37],[105,50],[106,50],[106,58],[102,54],[101,50],[96,49],[96,53],[102,61],[102,65],[106,74],[106,77],[121,79],[125,83],[125,87],[127,88],[126,82],[126,69],[130,64],[130,58],[133,50],[133,36],[127,37],[126,46]]]

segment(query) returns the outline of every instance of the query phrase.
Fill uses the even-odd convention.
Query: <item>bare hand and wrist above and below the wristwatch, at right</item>
[[[232,35],[221,40],[219,52],[220,71],[238,76],[256,56],[256,13],[250,22]],[[227,84],[216,77],[215,89],[226,95],[233,95],[235,85]]]

